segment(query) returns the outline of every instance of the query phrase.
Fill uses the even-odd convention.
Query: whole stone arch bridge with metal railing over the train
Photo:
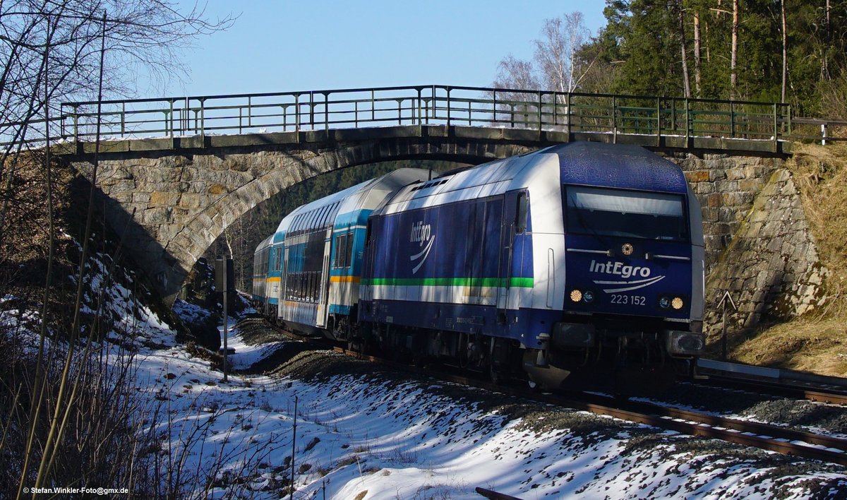
[[[527,93],[529,97],[518,101],[512,96],[510,101],[495,89],[470,89],[489,92],[483,99],[457,94],[467,87],[436,86],[387,89],[410,91],[411,97],[380,99],[376,91],[382,90],[368,90],[368,97],[361,99],[330,98],[333,92],[346,96],[361,90],[274,94],[291,103],[274,104],[281,114],[274,115],[270,125],[261,119],[267,115],[259,113],[269,105],[257,103],[256,96],[240,96],[244,105],[218,107],[210,104],[217,97],[204,97],[196,105],[187,98],[184,103],[164,99],[157,101],[158,108],[142,108],[135,114],[127,111],[130,102],[111,102],[118,108],[103,114],[107,140],[99,146],[90,135],[90,123],[86,132],[85,119],[93,114],[85,106],[93,103],[65,104],[65,141],[54,148],[65,164],[89,180],[97,156],[96,186],[107,206],[106,218],[168,303],[173,303],[197,258],[228,225],[298,182],[332,170],[397,159],[480,164],[580,140],[638,144],[680,164],[703,205],[706,265],[712,270],[722,252],[734,245],[734,237],[745,231],[750,211],[759,203],[757,196],[772,188],[775,173],[784,172],[783,159],[790,153],[789,142],[782,140],[782,111],[770,104],[764,105],[767,113],[756,113],[761,103],[750,103],[753,107],[745,114],[739,108],[743,103],[711,102],[710,110],[698,115],[693,103],[668,104],[670,99],[660,97],[639,97],[653,103],[647,106],[612,96],[553,92]],[[595,114],[601,102],[597,100],[602,99],[609,102],[599,106],[605,114]],[[385,102],[389,108],[380,108]],[[720,121],[714,109],[723,104],[729,114]],[[216,109],[226,125],[214,125]],[[151,113],[163,116],[163,122],[137,119]],[[756,116],[765,119],[756,122]],[[742,125],[741,118],[748,123]],[[698,129],[698,120],[712,128]],[[716,123],[725,130],[714,129]],[[146,135],[160,137],[139,138]],[[785,181],[783,177],[778,175]],[[773,189],[783,188],[784,182]],[[799,202],[792,198],[786,203]],[[796,210],[789,213],[798,216]],[[763,216],[760,222],[773,216]],[[791,249],[797,247],[794,243]],[[774,255],[767,258],[778,268],[782,253]],[[776,274],[790,275],[789,287],[796,291],[807,281],[803,278],[807,269],[785,269],[788,260],[782,259]],[[755,266],[745,269],[759,273]],[[715,270],[713,274],[725,281],[721,287],[736,286],[740,292],[749,284],[744,276],[739,281]],[[750,311],[739,322],[758,319],[763,310],[756,304],[766,301],[775,288],[785,288],[771,268],[762,273],[753,281],[761,281],[764,292],[750,298]]]

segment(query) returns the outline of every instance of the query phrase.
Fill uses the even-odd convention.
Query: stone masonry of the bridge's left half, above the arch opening
[[[297,142],[270,134],[239,136],[203,148],[174,147],[170,141],[170,147],[152,147],[151,140],[135,140],[109,151],[107,144],[97,166],[97,189],[108,223],[173,303],[197,258],[224,229],[289,186],[360,164],[418,158],[480,164],[553,143],[504,141],[499,129],[472,137],[396,130],[407,128],[358,131],[341,140],[332,134],[311,141],[301,135],[305,140]],[[65,159],[91,180],[91,153]]]

